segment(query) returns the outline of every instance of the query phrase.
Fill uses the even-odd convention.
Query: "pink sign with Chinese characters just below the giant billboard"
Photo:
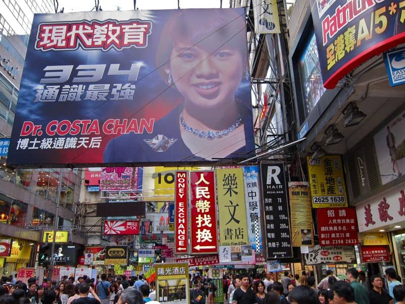
[[[138,189],[137,167],[107,167],[101,169],[101,191],[136,189]]]

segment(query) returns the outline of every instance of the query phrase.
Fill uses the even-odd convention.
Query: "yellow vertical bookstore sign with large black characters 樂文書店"
[[[220,246],[249,245],[242,168],[217,169]]]

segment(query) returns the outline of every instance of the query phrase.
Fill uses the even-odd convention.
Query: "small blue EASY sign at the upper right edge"
[[[391,87],[405,83],[405,48],[384,53],[384,62]]]

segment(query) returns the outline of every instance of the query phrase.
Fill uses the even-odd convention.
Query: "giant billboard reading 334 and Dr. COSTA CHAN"
[[[244,9],[35,14],[10,165],[195,164],[252,151]]]

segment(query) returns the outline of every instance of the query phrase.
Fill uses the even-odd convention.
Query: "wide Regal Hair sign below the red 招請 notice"
[[[355,263],[356,254],[353,246],[319,246],[309,247],[309,252],[303,254],[304,264],[322,263]]]

